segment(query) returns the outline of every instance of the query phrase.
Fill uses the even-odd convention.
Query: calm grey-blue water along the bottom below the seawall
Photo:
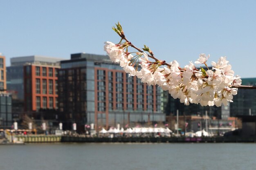
[[[256,144],[0,146],[0,170],[256,170]]]

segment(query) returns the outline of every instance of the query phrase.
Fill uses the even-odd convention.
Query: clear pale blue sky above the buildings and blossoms
[[[138,47],[181,66],[200,53],[227,56],[236,75],[256,77],[256,1],[0,0],[0,53],[7,57],[105,54],[120,22]]]

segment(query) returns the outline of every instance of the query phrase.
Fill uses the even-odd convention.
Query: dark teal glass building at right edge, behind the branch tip
[[[243,78],[242,85],[256,85],[256,78]],[[238,89],[230,103],[230,115],[256,115],[256,89]]]

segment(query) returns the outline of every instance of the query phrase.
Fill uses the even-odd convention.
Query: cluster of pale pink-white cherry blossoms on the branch
[[[117,25],[119,26],[119,25]],[[114,29],[115,30],[115,29]],[[124,39],[121,26],[115,30]],[[190,62],[181,68],[179,63],[166,63],[153,57],[152,51],[145,46],[144,51],[129,53],[128,46],[134,47],[126,40],[125,43],[105,42],[104,50],[112,62],[120,64],[129,76],[137,76],[141,82],[150,85],[158,85],[164,91],[168,91],[174,99],[179,98],[181,103],[201,104],[202,106],[227,106],[233,102],[233,95],[237,94],[237,88],[232,85],[241,85],[240,77],[234,76],[231,65],[226,57],[220,57],[218,62],[211,62],[209,69],[206,62],[209,55],[200,54],[195,64],[204,64],[206,67],[197,68]],[[150,61],[153,58],[155,61]]]

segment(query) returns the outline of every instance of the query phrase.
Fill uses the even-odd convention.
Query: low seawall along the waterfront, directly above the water
[[[17,141],[25,143],[47,142],[122,142],[122,143],[256,143],[256,137],[74,137],[56,135],[17,135]]]

